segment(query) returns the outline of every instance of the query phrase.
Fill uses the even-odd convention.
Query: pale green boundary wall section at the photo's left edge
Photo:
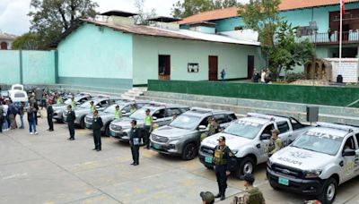
[[[0,50],[0,83],[20,82],[20,54],[16,50]]]

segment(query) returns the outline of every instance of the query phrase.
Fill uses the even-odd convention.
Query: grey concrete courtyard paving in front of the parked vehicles
[[[28,125],[26,124],[26,127]],[[0,134],[0,203],[201,203],[199,191],[217,191],[214,171],[197,159],[182,161],[152,150],[140,150],[140,165],[131,166],[127,143],[102,137],[102,151],[92,151],[92,132],[76,130],[66,140],[66,124],[39,135],[28,130]],[[258,166],[256,183],[267,203],[302,203],[300,195],[274,191]],[[229,179],[227,200],[243,189]],[[340,186],[336,203],[359,203],[359,177]]]

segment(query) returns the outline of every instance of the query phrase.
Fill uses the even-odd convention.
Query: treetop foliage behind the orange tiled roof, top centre
[[[197,13],[238,5],[236,0],[184,0],[173,4],[172,16],[186,18]]]

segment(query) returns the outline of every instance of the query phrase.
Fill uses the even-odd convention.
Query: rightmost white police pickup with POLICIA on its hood
[[[267,161],[274,189],[332,203],[337,186],[359,175],[359,127],[318,123]]]

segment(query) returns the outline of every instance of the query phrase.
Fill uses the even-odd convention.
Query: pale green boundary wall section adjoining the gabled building
[[[55,51],[22,51],[22,83],[55,83]]]

